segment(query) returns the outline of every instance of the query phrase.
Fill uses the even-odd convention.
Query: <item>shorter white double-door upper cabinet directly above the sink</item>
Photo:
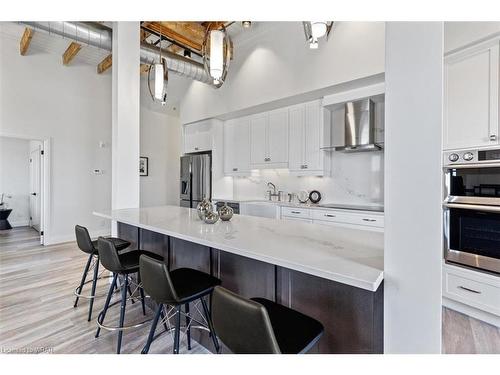
[[[250,118],[252,168],[288,167],[288,110],[279,109]]]

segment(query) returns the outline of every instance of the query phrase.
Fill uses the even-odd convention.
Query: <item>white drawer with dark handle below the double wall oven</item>
[[[473,271],[469,271],[473,272]],[[500,315],[500,282],[487,283],[474,276],[445,268],[443,295],[481,310]],[[495,285],[496,284],[496,285]]]

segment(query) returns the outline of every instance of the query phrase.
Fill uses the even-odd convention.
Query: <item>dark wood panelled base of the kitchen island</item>
[[[383,353],[383,283],[371,292],[124,223],[118,234],[131,249],[162,255],[169,269],[210,273],[244,297],[268,298],[319,320],[325,333],[310,353]],[[192,335],[213,350],[207,332]]]

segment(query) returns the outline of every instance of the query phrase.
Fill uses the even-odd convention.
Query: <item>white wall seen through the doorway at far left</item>
[[[26,139],[0,137],[0,194],[12,209],[8,220],[13,227],[30,220],[29,146]]]

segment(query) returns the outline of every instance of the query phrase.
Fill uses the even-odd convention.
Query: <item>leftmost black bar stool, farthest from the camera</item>
[[[89,315],[88,321],[92,319],[92,307],[94,305],[95,299],[95,288],[97,284],[97,280],[101,279],[99,276],[99,252],[98,252],[98,243],[97,241],[92,241],[89,235],[89,231],[87,228],[82,227],[81,225],[75,226],[75,235],[76,235],[76,243],[81,251],[89,254],[89,259],[87,260],[87,264],[85,265],[85,269],[83,270],[82,280],[80,281],[80,285],[75,289],[75,303],[73,307],[78,306],[78,300],[81,298],[86,298],[90,300],[89,304]],[[130,246],[130,242],[122,240],[120,238],[108,237],[110,241],[115,244],[115,248],[117,251],[121,251]],[[94,270],[94,276],[92,280],[85,281],[87,279],[87,275],[90,270]],[[85,296],[82,295],[83,286],[92,282],[92,292],[90,295]]]

